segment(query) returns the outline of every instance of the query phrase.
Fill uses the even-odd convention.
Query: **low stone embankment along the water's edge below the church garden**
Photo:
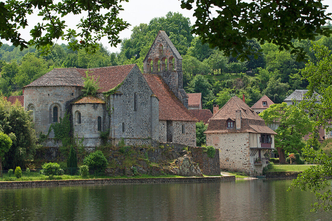
[[[2,181],[2,182],[0,182],[0,189],[1,188],[47,187],[47,186],[100,185],[100,184],[210,183],[210,182],[220,182],[220,181],[230,181],[230,180],[235,180],[235,176]]]

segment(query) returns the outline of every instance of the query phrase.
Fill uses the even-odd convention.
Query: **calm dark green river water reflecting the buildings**
[[[114,184],[0,190],[0,220],[332,220],[291,181]]]

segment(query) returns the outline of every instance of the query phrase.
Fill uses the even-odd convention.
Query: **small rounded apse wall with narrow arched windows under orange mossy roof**
[[[78,123],[77,114],[81,113],[81,123]],[[73,135],[84,137],[84,145],[95,147],[101,144],[100,131],[98,131],[98,117],[101,117],[102,131],[105,131],[105,104],[73,104]]]

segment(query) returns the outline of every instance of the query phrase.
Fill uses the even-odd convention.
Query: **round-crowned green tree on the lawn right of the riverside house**
[[[302,137],[308,132],[312,132],[312,122],[308,115],[298,107],[282,104],[273,104],[270,108],[259,114],[265,120],[267,126],[275,129],[275,125],[280,124],[275,129],[275,147],[278,150],[279,162],[286,163],[285,153],[296,153],[304,147]]]

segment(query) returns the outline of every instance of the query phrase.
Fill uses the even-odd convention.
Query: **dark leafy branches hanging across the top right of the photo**
[[[226,55],[243,60],[253,51],[247,39],[257,38],[261,44],[272,42],[279,49],[292,49],[298,58],[305,52],[292,44],[293,39],[314,40],[315,36],[329,36],[332,32],[323,27],[331,20],[325,15],[326,5],[321,0],[294,1],[219,1],[181,0],[181,7],[191,10],[196,4],[197,18],[193,34],[202,37],[202,43],[219,47]],[[285,16],[287,15],[287,16]],[[255,53],[258,55],[259,52]]]

